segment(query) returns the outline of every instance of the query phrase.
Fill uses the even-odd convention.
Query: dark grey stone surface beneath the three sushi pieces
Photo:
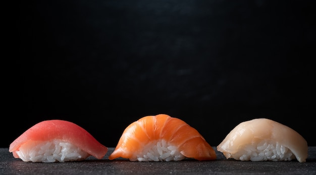
[[[215,147],[214,147],[215,148]],[[0,148],[0,174],[316,174],[316,147],[308,147],[306,162],[239,161],[226,159],[217,152],[213,161],[184,159],[169,162],[138,162],[118,158],[109,160],[114,148],[102,159],[88,157],[74,162],[24,162],[13,157],[8,148]]]

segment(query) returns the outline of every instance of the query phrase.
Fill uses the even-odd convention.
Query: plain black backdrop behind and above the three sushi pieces
[[[261,117],[316,146],[314,1],[17,7],[0,147],[50,119],[74,122],[115,147],[130,123],[162,113],[196,128],[211,146]]]

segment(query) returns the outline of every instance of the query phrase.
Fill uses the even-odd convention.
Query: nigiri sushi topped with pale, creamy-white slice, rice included
[[[306,140],[292,128],[276,121],[258,118],[237,125],[217,146],[225,157],[242,161],[305,162]]]

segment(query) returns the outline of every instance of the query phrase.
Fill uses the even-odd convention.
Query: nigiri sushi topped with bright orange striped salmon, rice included
[[[160,114],[142,117],[124,130],[109,159],[118,157],[130,161],[214,160],[216,153],[196,129]]]

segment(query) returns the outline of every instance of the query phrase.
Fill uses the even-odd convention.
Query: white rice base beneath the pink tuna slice
[[[59,139],[32,141],[21,146],[16,153],[23,161],[47,163],[83,160],[90,156],[74,144]]]

